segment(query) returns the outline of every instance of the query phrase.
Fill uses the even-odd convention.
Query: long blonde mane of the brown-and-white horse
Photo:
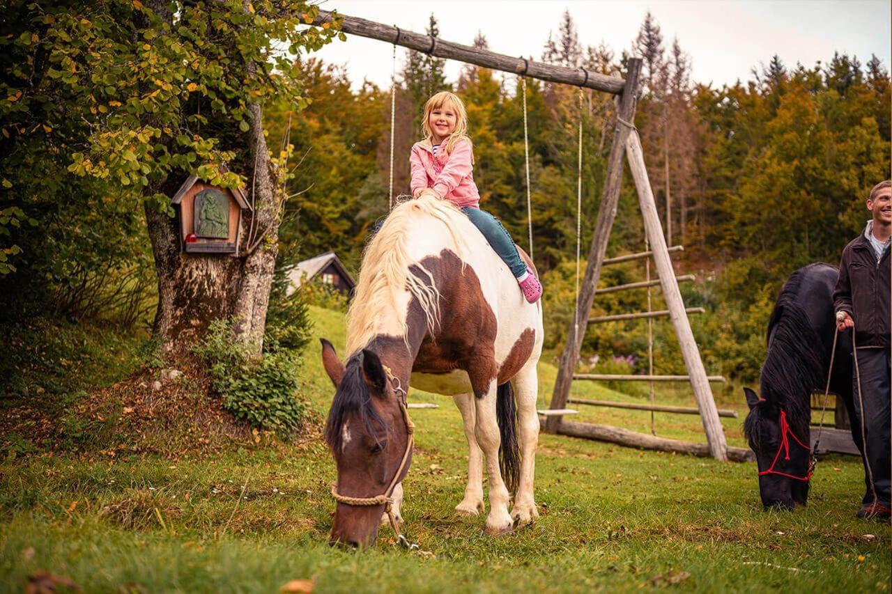
[[[394,208],[387,220],[362,255],[359,282],[347,312],[347,352],[352,354],[365,347],[379,334],[378,321],[389,310],[400,321],[403,340],[408,341],[406,311],[401,311],[399,296],[409,291],[425,312],[427,330],[435,334],[440,318],[440,292],[434,284],[434,276],[417,260],[409,257],[409,241],[412,235],[424,233],[424,225],[445,225],[452,236],[454,247],[462,261],[463,246],[457,225],[467,221],[465,215],[452,202],[425,193],[416,200],[402,202]],[[435,255],[435,254],[428,254]],[[426,279],[409,272],[420,268]]]

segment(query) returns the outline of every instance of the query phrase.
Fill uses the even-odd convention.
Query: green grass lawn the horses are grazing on
[[[312,316],[317,333],[343,350],[342,315],[314,308]],[[321,417],[334,392],[318,342],[305,370],[305,392]],[[554,367],[541,366],[543,399],[554,375]],[[579,390],[629,400],[595,384]],[[424,392],[410,400],[441,405],[413,411],[417,453],[405,481],[406,528],[424,555],[394,546],[387,530],[372,550],[326,545],[335,469],[318,436],[283,442],[260,435],[182,456],[10,449],[0,462],[0,590],[21,591],[38,570],[68,576],[85,591],[276,591],[294,579],[350,592],[673,583],[698,591],[889,590],[890,530],[855,519],[863,471],[853,458],[822,460],[805,509],[765,513],[753,464],[543,434],[541,519],[492,539],[482,517],[452,513],[467,472],[458,410]],[[613,409],[585,416],[642,428],[649,422],[647,414]],[[730,421],[729,441],[742,444],[740,420]],[[698,417],[657,417],[657,433],[666,436],[702,440],[698,425]]]

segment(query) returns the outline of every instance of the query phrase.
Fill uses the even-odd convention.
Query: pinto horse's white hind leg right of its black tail
[[[536,399],[539,391],[536,363],[531,361],[512,380],[517,400],[517,421],[520,430],[520,484],[514,499],[511,517],[519,524],[528,524],[539,517],[533,498],[536,469],[536,447],[539,444],[539,415]]]

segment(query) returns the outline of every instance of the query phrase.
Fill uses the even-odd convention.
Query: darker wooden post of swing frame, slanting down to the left
[[[638,94],[640,71],[640,58],[629,60],[623,95],[620,96],[619,109],[616,111],[617,117],[627,122],[632,122],[635,119],[635,101]],[[616,204],[619,202],[619,192],[623,184],[625,141],[628,136],[629,127],[617,121],[613,145],[610,147],[610,160],[607,161],[607,181],[604,184],[604,194],[601,196],[598,222],[595,223],[595,235],[591,238],[589,260],[585,267],[579,301],[576,303],[576,318],[571,320],[570,328],[566,333],[566,346],[560,358],[560,367],[555,380],[555,389],[551,395],[550,408],[566,408],[566,397],[570,393],[574,367],[576,367],[576,360],[579,359],[582,337],[585,335],[584,328],[589,319],[591,304],[595,301],[595,289],[598,287],[601,266],[604,263],[604,256],[607,254],[607,239],[610,237],[610,229],[613,228],[613,221],[616,218]],[[575,333],[575,328],[581,329],[582,332]],[[545,421],[545,431],[557,433],[560,423],[560,417],[548,417]]]

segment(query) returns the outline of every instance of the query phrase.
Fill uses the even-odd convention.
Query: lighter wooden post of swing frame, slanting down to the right
[[[654,201],[654,193],[650,189],[648,171],[644,166],[644,154],[641,152],[641,142],[637,132],[626,138],[625,151],[629,159],[629,169],[635,180],[635,188],[638,190],[638,202],[641,207],[641,215],[644,217],[644,227],[648,234],[648,240],[650,240],[650,247],[654,252],[657,274],[660,276],[663,287],[663,299],[669,309],[669,318],[672,319],[673,326],[675,326],[675,334],[678,336],[685,367],[688,367],[690,385],[694,389],[694,398],[700,409],[700,419],[703,421],[703,429],[706,431],[709,451],[713,458],[727,460],[728,446],[725,443],[722,422],[715,409],[713,392],[706,379],[706,369],[703,367],[703,359],[700,359],[697,342],[690,330],[690,321],[684,312],[684,302],[681,300],[681,291],[675,281],[672,260],[669,260],[669,252],[666,251],[666,241],[663,229],[660,228],[657,203]]]

